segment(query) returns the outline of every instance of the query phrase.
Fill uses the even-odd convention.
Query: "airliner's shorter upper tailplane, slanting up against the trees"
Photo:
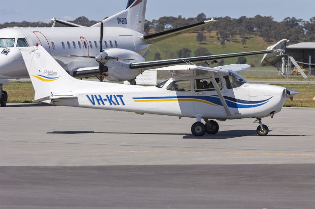
[[[182,26],[170,30],[165,30],[157,33],[153,33],[150,35],[143,35],[140,37],[146,44],[153,44],[158,41],[162,41],[164,39],[182,34],[182,33],[187,33],[193,30],[197,30],[199,28],[205,27],[205,26],[210,26],[215,20],[206,20],[200,23],[188,25],[188,26]]]

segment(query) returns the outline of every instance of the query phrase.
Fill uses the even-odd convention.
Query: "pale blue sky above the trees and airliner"
[[[100,3],[103,2],[102,5]],[[127,0],[3,0],[0,7],[0,23],[49,22],[56,17],[74,20],[85,16],[99,21],[126,8]],[[147,0],[146,19],[162,16],[239,18],[272,16],[276,21],[286,17],[309,20],[315,16],[315,0]]]

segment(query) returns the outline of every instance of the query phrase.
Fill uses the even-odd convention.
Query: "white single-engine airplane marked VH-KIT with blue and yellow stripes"
[[[84,108],[196,118],[195,136],[215,134],[214,120],[256,118],[257,133],[267,135],[261,118],[281,111],[298,92],[280,86],[248,83],[237,72],[246,64],[216,68],[176,65],[158,70],[171,77],[156,86],[78,80],[69,76],[41,46],[21,50],[35,89],[34,102]],[[202,119],[205,121],[203,124]]]

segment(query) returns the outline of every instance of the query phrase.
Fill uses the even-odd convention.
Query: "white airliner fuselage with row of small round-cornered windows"
[[[149,45],[139,39],[141,35],[143,34],[127,28],[104,27],[103,49],[126,49],[143,55]],[[0,39],[2,38],[14,38],[15,43],[13,47],[0,47],[0,78],[29,78],[17,47],[19,38],[25,38],[29,46],[43,46],[70,75],[78,69],[98,66],[95,59],[86,57],[95,56],[100,50],[99,27],[4,28],[0,29]],[[8,52],[1,53],[3,51]],[[113,77],[113,80],[117,78]]]

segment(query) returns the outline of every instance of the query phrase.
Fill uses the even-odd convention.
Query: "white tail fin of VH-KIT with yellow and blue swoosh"
[[[35,89],[35,101],[46,101],[55,95],[71,97],[78,80],[72,78],[42,46],[27,47],[21,53]]]

